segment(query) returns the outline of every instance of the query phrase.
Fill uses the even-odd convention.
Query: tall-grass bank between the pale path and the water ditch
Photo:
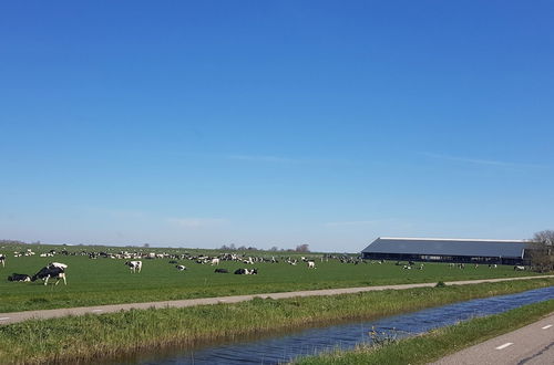
[[[553,284],[553,279],[536,279],[33,320],[0,326],[0,358],[6,363],[100,361],[203,341],[384,316]]]

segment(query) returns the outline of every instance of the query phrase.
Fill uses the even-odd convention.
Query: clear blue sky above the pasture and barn
[[[0,238],[554,228],[552,1],[4,1]]]

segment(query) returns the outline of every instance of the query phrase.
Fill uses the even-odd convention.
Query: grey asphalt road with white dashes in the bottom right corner
[[[554,313],[514,332],[468,347],[435,365],[552,365],[554,364]]]

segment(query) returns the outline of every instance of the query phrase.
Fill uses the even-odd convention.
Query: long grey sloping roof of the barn
[[[525,241],[379,237],[361,252],[523,258]]]

